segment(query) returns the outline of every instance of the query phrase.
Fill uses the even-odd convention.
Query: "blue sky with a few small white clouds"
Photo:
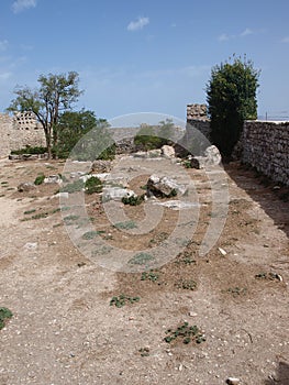
[[[246,54],[262,70],[258,114],[289,117],[288,16],[288,0],[1,0],[0,111],[16,85],[76,70],[76,108],[185,119],[212,67]]]

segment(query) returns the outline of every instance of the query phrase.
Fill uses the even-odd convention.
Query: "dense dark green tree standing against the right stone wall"
[[[212,68],[207,85],[211,140],[225,157],[231,156],[244,120],[257,119],[258,77],[259,70],[246,57],[234,57],[233,63]]]

